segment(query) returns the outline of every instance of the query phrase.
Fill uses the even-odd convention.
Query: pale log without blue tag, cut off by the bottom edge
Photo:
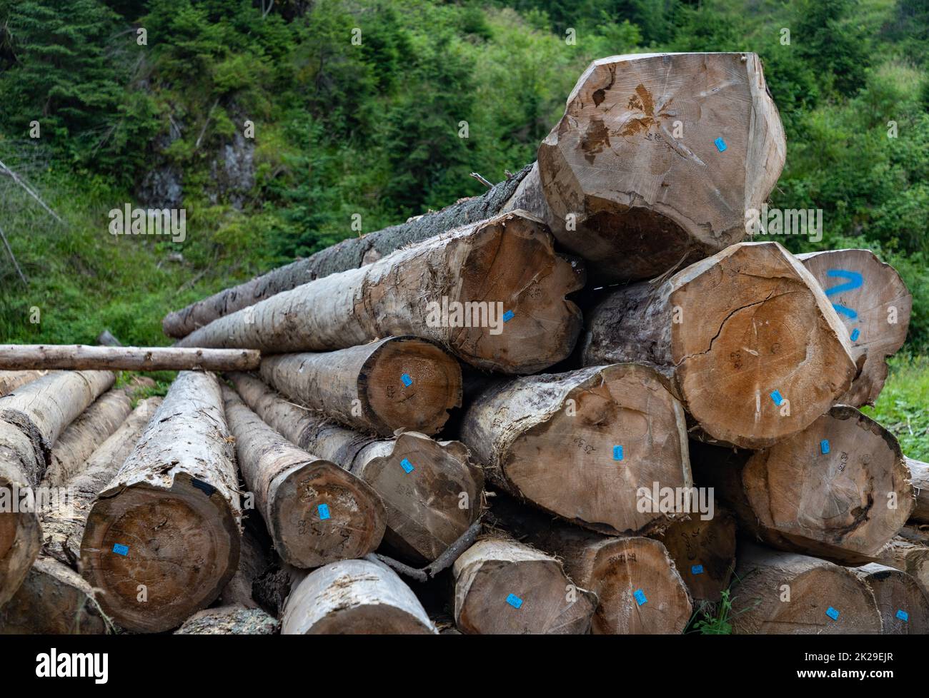
[[[311,572],[294,588],[282,635],[438,635],[423,604],[379,562],[344,560]]]

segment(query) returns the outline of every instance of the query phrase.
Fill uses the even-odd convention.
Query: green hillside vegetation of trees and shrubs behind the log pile
[[[0,249],[0,339],[165,343],[165,312],[357,235],[356,214],[377,229],[479,193],[470,172],[530,162],[593,58],[752,50],[788,136],[772,203],[824,211],[823,239],[779,240],[878,252],[914,295],[909,352],[927,351],[929,0],[260,6],[0,0],[0,160],[64,221],[0,176],[29,279]],[[246,121],[254,173],[237,189],[223,172]],[[180,174],[187,239],[109,235],[107,212],[164,172]],[[878,406],[923,453],[924,366],[898,362]]]

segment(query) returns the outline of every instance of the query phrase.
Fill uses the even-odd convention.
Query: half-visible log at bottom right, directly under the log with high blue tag
[[[740,543],[732,596],[736,635],[876,635],[870,588],[832,562]]]

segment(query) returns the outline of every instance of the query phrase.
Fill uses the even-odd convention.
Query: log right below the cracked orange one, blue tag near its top
[[[696,445],[691,454],[700,485],[713,486],[746,530],[779,549],[870,562],[913,508],[896,438],[855,407],[833,407],[753,454]]]

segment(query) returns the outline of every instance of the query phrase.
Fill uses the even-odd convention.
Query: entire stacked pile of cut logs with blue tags
[[[857,409],[909,292],[746,241],[784,157],[754,54],[604,58],[536,162],[170,314],[173,348],[0,349],[0,485],[80,493],[0,518],[0,625],[926,632],[929,466]],[[131,414],[70,370],[146,361],[182,372]]]

